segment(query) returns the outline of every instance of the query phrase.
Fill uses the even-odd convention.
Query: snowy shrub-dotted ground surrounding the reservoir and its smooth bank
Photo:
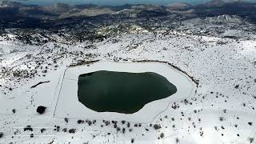
[[[83,116],[87,121],[81,124],[78,118],[67,117],[65,122],[54,117],[54,102],[66,66],[90,60],[169,62],[198,80],[199,85],[190,98],[171,103],[150,122],[152,125],[118,121],[114,128],[113,122],[90,119],[90,115]],[[122,34],[103,42],[73,45],[49,42],[24,46],[6,40],[0,42],[0,71],[0,132],[4,134],[0,143],[131,143],[132,138],[139,144],[256,141],[254,39],[159,32]],[[46,83],[31,88],[38,82]],[[41,105],[47,107],[42,115],[36,112]],[[155,130],[155,124],[161,128]],[[29,131],[22,133],[27,125],[33,128],[33,138]],[[40,132],[42,128],[46,129],[44,133]],[[75,133],[69,133],[73,128]]]

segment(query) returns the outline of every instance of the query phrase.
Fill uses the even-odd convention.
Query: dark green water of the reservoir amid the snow
[[[78,100],[90,110],[133,114],[149,102],[167,98],[176,86],[162,75],[96,71],[78,78]]]

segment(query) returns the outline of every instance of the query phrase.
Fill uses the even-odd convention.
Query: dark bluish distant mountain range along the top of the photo
[[[229,14],[256,23],[256,2],[239,0],[214,0],[192,6],[187,3],[158,5],[96,6],[55,4],[53,6],[25,5],[20,2],[0,1],[0,28],[49,28],[74,23],[71,19],[102,20],[112,18],[168,18],[178,14],[180,18],[206,18]]]

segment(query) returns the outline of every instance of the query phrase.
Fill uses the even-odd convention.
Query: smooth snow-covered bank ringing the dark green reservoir
[[[98,70],[142,73],[154,72],[167,78],[168,81],[177,87],[176,94],[168,98],[146,104],[134,114],[118,114],[114,112],[98,113],[83,106],[78,102],[78,76],[80,74],[91,73]],[[90,66],[74,66],[66,70],[63,78],[62,89],[58,98],[54,115],[58,118],[90,118],[90,119],[106,119],[106,120],[126,120],[129,122],[149,123],[161,114],[173,102],[181,101],[194,94],[195,84],[187,78],[186,74],[174,68],[157,62],[96,62]]]

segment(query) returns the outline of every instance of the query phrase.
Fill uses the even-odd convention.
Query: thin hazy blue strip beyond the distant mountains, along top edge
[[[131,4],[150,3],[150,4],[166,5],[174,2],[186,2],[190,4],[198,4],[201,2],[208,2],[210,0],[13,0],[13,1],[23,2],[26,4],[38,4],[38,5],[51,5],[54,3],[68,3],[68,4],[93,3],[98,5],[123,5],[126,3],[131,3]],[[256,1],[256,0],[249,0],[249,1]]]

